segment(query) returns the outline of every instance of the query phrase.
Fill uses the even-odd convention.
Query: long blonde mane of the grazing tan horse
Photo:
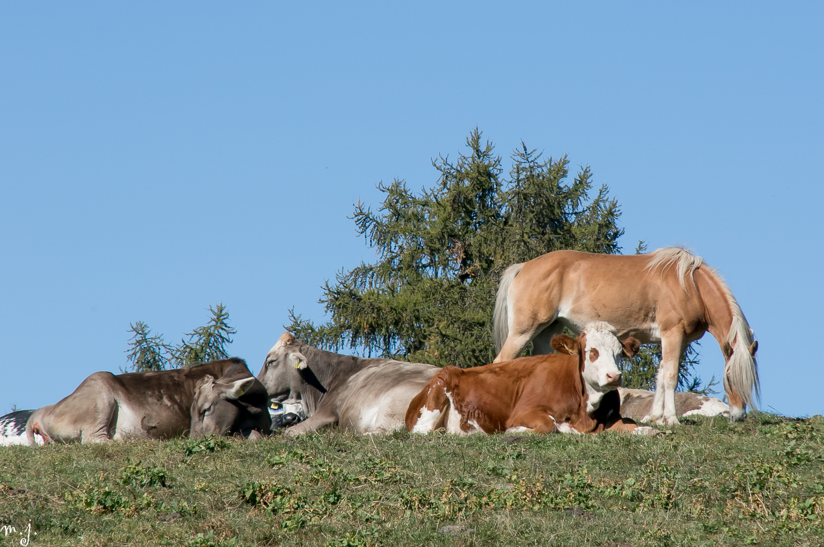
[[[755,389],[756,399],[761,398],[761,387],[758,380],[758,365],[756,359],[750,354],[750,345],[752,344],[752,329],[738,301],[733,296],[733,291],[724,282],[723,278],[713,267],[704,262],[701,257],[696,257],[685,248],[681,247],[665,247],[659,248],[649,253],[649,262],[645,270],[656,271],[660,269],[661,276],[667,268],[676,267],[678,281],[681,283],[681,288],[686,291],[686,276],[690,276],[692,286],[697,290],[695,285],[695,270],[699,267],[704,267],[705,271],[716,280],[727,299],[729,311],[733,315],[733,322],[730,324],[727,337],[724,343],[729,344],[733,350],[733,355],[727,360],[724,366],[723,386],[729,392],[732,388],[738,396],[742,398],[744,404],[753,404],[752,390]]]

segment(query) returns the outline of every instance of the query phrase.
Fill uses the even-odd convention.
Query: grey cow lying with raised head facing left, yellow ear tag
[[[403,429],[406,407],[438,370],[431,364],[338,355],[284,332],[258,379],[275,405],[302,403],[308,417],[286,429],[289,435],[332,424],[358,433],[390,433]]]

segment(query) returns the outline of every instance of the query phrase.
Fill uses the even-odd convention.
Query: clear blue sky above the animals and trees
[[[371,261],[351,215],[479,127],[591,165],[624,250],[718,267],[763,407],[824,413],[819,2],[0,6],[0,410],[227,304],[254,373],[292,306]],[[707,335],[700,374],[720,377]]]

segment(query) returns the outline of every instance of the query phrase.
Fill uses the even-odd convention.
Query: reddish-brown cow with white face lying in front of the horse
[[[620,342],[605,322],[578,338],[555,336],[559,354],[534,355],[475,369],[444,367],[414,397],[406,429],[428,433],[652,433],[621,418],[616,359],[632,357],[639,341]]]

